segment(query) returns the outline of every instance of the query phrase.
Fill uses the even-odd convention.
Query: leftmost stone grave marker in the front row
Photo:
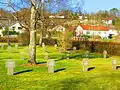
[[[7,75],[13,75],[15,68],[15,61],[8,60],[6,61]]]

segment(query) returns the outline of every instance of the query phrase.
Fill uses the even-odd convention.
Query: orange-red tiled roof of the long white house
[[[91,26],[91,25],[80,25],[83,30],[95,30],[95,31],[108,31],[109,29],[105,26]]]

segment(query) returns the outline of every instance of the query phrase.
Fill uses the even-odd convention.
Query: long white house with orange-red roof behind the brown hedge
[[[101,38],[108,38],[110,34],[117,35],[113,30],[105,26],[91,26],[91,25],[82,25],[80,24],[75,30],[76,36],[79,37],[83,34],[88,35],[99,35]]]

